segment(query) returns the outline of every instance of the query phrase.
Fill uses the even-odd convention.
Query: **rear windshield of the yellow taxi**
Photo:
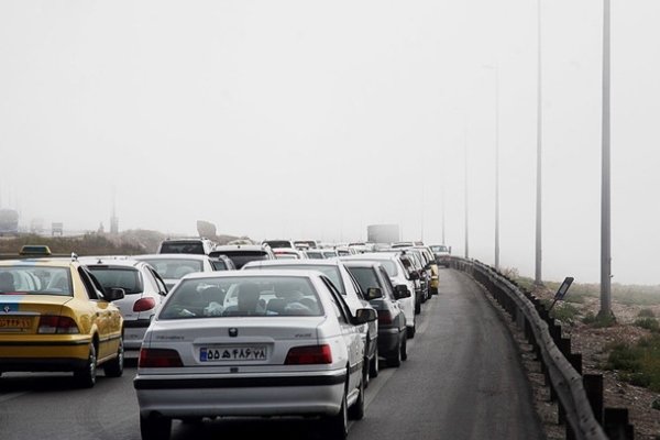
[[[0,267],[0,295],[73,296],[68,267],[10,266]]]

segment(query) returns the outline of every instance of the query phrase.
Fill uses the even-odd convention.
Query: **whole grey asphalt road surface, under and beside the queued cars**
[[[366,416],[349,439],[542,439],[531,392],[509,333],[465,275],[441,270],[408,340],[408,361],[382,369],[366,391]],[[100,374],[92,389],[69,375],[6,373],[0,378],[2,440],[139,440],[135,369]],[[183,425],[173,439],[315,439],[315,420],[234,419]]]

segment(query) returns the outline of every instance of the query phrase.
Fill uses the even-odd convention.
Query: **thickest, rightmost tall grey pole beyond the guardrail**
[[[603,172],[601,184],[601,311],[603,318],[612,317],[612,229],[609,180],[609,0],[603,3]]]

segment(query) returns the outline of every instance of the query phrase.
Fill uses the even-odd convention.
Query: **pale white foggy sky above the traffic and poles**
[[[600,278],[602,1],[542,0],[543,275]],[[613,1],[614,282],[660,284],[660,3]],[[537,2],[0,2],[0,204],[66,229],[404,239],[534,273]],[[496,67],[495,67],[496,66]],[[499,81],[495,72],[498,72]],[[496,89],[499,106],[495,106]]]

